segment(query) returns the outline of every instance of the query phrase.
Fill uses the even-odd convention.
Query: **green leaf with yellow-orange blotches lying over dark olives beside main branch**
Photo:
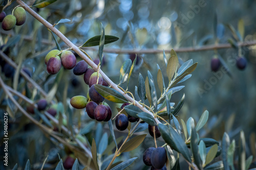
[[[94,85],[96,91],[100,93],[105,99],[115,103],[127,103],[127,99],[113,88],[102,86],[100,84]]]

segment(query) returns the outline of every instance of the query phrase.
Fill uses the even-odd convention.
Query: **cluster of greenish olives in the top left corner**
[[[14,9],[13,14],[6,15],[5,12],[0,13],[0,22],[5,31],[13,29],[15,26],[22,26],[27,18],[27,13],[24,8],[17,7]]]

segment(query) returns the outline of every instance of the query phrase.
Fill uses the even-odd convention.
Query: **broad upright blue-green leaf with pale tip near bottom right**
[[[227,150],[228,150],[229,144],[230,144],[230,139],[229,139],[228,134],[225,132],[223,134],[222,143],[221,143],[221,147],[222,147],[222,151],[221,151],[222,152],[222,161],[223,161],[223,166],[224,166],[225,170],[229,170],[230,169],[229,165],[228,165],[228,162],[227,162],[227,155],[228,155]]]

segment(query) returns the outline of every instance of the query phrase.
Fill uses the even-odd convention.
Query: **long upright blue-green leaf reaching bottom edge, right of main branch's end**
[[[194,157],[194,162],[195,164],[197,165],[197,167],[199,169],[203,169],[203,166],[202,166],[202,160],[200,158],[200,152],[199,152],[199,149],[198,149],[198,138],[197,138],[197,131],[195,129],[195,125],[192,126],[192,129],[191,129],[191,140],[190,140],[190,148],[192,150],[192,153],[193,153],[193,157]],[[217,147],[218,148],[218,147]],[[217,150],[218,151],[218,150]]]

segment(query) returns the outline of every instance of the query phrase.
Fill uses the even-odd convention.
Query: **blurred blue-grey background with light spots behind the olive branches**
[[[3,2],[3,1],[2,1]],[[32,4],[33,1],[25,1]],[[5,3],[5,2],[4,2]],[[12,3],[6,9],[6,13],[17,4]],[[228,43],[232,39],[231,31],[227,25],[232,25],[238,29],[239,19],[243,19],[245,27],[244,41],[253,41],[256,39],[255,24],[256,2],[245,1],[131,1],[131,0],[98,0],[98,1],[57,1],[44,9],[35,9],[39,15],[47,19],[50,23],[56,23],[59,19],[68,18],[71,22],[61,23],[55,26],[73,43],[78,45],[86,42],[90,37],[100,34],[101,24],[105,27],[106,35],[114,35],[120,39],[114,43],[104,46],[107,52],[104,52],[104,65],[102,70],[109,78],[118,84],[119,70],[121,64],[126,59],[134,59],[135,52],[139,50],[170,50],[183,47],[200,48],[205,45],[215,44],[214,36],[214,18],[217,15],[218,23],[224,26],[223,36],[219,39],[220,44]],[[28,14],[27,21],[23,27],[17,27],[12,32],[4,32],[2,29],[0,43],[5,44],[8,39],[19,35],[19,42],[12,45],[9,57],[14,61],[19,61],[22,57],[23,66],[28,67],[33,72],[35,80],[46,91],[53,86],[55,76],[49,76],[44,63],[46,54],[56,45],[51,33]],[[57,38],[58,39],[58,38]],[[59,41],[59,44],[65,48],[65,44]],[[84,50],[93,58],[98,57],[97,47],[84,48]],[[120,51],[116,53],[116,51]],[[122,53],[125,51],[125,53]],[[223,71],[223,66],[218,72],[210,70],[210,60],[214,56],[214,49],[199,52],[177,52],[180,64],[193,59],[198,62],[193,76],[179,85],[185,87],[172,96],[171,101],[178,103],[183,93],[185,93],[185,102],[178,113],[180,118],[187,120],[190,116],[198,122],[204,110],[209,111],[208,123],[199,132],[200,137],[211,137],[221,140],[223,133],[227,132],[231,139],[238,139],[241,130],[245,131],[247,141],[247,155],[253,154],[255,158],[255,112],[256,112],[256,50],[255,46],[243,47],[242,55],[247,60],[247,67],[241,71],[236,66],[236,58],[239,53],[235,48],[218,49],[217,52],[223,58],[228,66],[231,76]],[[166,53],[167,59],[170,57]],[[80,58],[77,57],[79,61]],[[137,85],[139,72],[144,79],[147,70],[153,74],[155,81],[157,77],[157,63],[162,69],[167,82],[166,68],[163,61],[163,53],[138,53],[138,63],[133,74],[133,79],[129,85],[129,90],[134,92]],[[69,80],[67,101],[74,95],[87,95],[88,87],[84,84],[83,78],[74,77],[72,71],[66,71],[65,74]],[[1,75],[2,77],[2,75]],[[78,82],[74,87],[72,82]],[[12,84],[11,80],[6,79],[7,84]],[[64,86],[59,86],[56,93],[57,99],[61,101]],[[160,90],[158,96],[160,96]],[[4,96],[3,90],[1,95]],[[40,97],[37,96],[39,99]],[[2,97],[3,100],[3,97]],[[120,105],[109,103],[112,106],[113,113],[116,114],[115,107]],[[3,112],[7,104],[2,102]],[[73,110],[74,126],[76,123],[82,123],[82,127],[91,121],[83,111]],[[1,113],[2,114],[2,113]],[[40,168],[39,165],[44,161],[47,155],[50,161],[47,163],[49,169],[53,168],[58,159],[57,153],[64,159],[66,157],[63,146],[53,139],[48,139],[38,128],[30,123],[26,118],[20,115],[17,121],[10,123],[9,141],[10,146],[10,164],[11,167],[18,163],[24,167],[26,160],[30,159],[34,169]],[[77,118],[76,116],[79,115]],[[78,121],[81,119],[81,122]],[[1,118],[2,120],[2,118]],[[3,125],[3,124],[1,124]],[[107,125],[98,125],[93,123],[92,131],[86,134],[89,141],[95,136],[101,136],[108,131]],[[102,131],[98,132],[97,127]],[[98,134],[97,134],[98,132]],[[115,132],[116,136],[126,135],[126,133]],[[147,133],[145,131],[144,133]],[[33,134],[33,135],[32,135]],[[96,137],[97,138],[97,137]],[[99,137],[98,137],[99,138]],[[110,136],[110,141],[111,141]],[[99,141],[99,139],[98,139]],[[253,142],[254,141],[254,142]],[[163,143],[160,139],[159,145]],[[238,142],[237,142],[238,143]],[[254,149],[251,147],[254,144]],[[136,150],[124,153],[119,160],[125,160],[131,157],[138,157],[133,166],[127,169],[148,169],[142,162],[142,155],[146,148],[152,147],[154,140],[147,136],[145,141]],[[44,147],[42,147],[44,146]],[[0,151],[2,152],[2,150]],[[2,158],[1,158],[2,159]],[[181,160],[182,161],[182,160]],[[55,166],[54,166],[55,167]],[[0,168],[4,168],[0,165]],[[185,167],[184,167],[185,168]]]

